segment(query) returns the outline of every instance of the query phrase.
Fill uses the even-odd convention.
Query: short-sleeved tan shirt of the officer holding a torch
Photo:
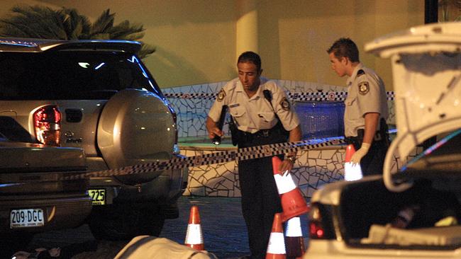
[[[223,105],[227,105],[229,113],[235,120],[238,129],[244,132],[255,133],[260,129],[271,129],[280,118],[285,129],[290,131],[299,125],[299,118],[291,107],[287,95],[274,81],[260,78],[260,87],[251,98],[245,93],[240,80],[229,81],[218,93],[216,101],[209,111],[209,117],[218,122]],[[272,93],[272,106],[264,97],[263,91]]]

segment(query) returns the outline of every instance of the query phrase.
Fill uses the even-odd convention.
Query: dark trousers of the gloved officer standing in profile
[[[345,138],[346,143],[353,144],[356,151],[362,146],[363,129],[359,129],[357,133],[357,137]],[[360,168],[362,168],[363,176],[382,174],[387,149],[389,149],[389,135],[387,132],[384,134],[382,132],[374,134],[372,146],[370,146],[368,153],[360,160]]]

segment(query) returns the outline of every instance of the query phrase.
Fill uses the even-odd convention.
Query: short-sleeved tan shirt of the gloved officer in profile
[[[346,137],[355,137],[357,129],[365,129],[366,113],[379,113],[379,117],[387,119],[386,89],[382,79],[362,63],[355,67],[352,76],[348,78],[347,85],[344,131]]]

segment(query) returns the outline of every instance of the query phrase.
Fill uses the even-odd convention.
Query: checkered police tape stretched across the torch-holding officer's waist
[[[173,170],[191,166],[204,166],[213,163],[226,163],[248,159],[260,159],[267,156],[276,156],[298,150],[318,149],[324,146],[339,145],[345,143],[344,137],[330,137],[324,139],[311,139],[301,142],[284,142],[267,144],[262,146],[250,146],[237,150],[220,151],[202,156],[175,157],[167,161],[155,161],[150,163],[139,163],[123,168],[94,171],[87,173],[76,173],[66,175],[60,180],[75,180],[91,177],[107,177],[116,175],[133,175],[139,173],[152,173],[155,171]]]

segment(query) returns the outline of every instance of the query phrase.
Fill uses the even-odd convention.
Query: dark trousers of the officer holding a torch
[[[255,134],[240,132],[238,148],[281,142],[287,142],[286,137],[272,129]],[[283,156],[279,157],[283,159]],[[251,258],[265,258],[274,214],[282,212],[272,171],[272,156],[238,161],[238,178]]]

